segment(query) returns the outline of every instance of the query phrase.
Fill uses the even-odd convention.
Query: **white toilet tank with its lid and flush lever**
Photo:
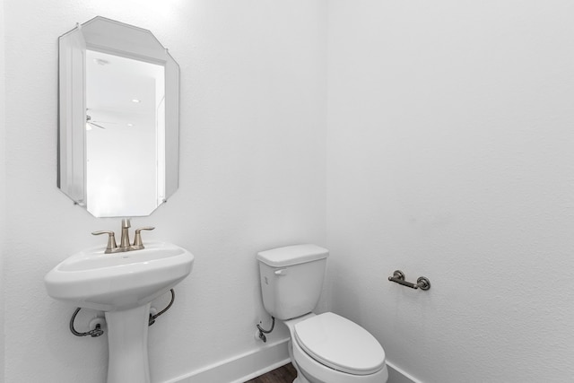
[[[308,314],[321,295],[329,251],[296,245],[257,253],[265,310],[286,320]]]

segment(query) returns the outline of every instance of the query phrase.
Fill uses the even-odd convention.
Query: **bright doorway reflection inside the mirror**
[[[164,78],[163,65],[86,50],[91,126],[86,134],[86,191],[93,215],[110,216],[118,208],[141,215],[163,201]]]

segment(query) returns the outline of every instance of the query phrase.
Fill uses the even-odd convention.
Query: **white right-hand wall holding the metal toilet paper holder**
[[[424,382],[574,376],[572,14],[329,2],[332,309]]]

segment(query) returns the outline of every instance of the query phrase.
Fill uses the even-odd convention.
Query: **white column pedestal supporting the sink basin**
[[[147,303],[135,309],[106,311],[108,325],[108,383],[150,383]]]

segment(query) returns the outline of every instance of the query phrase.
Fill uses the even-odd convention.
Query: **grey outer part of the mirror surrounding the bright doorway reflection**
[[[94,25],[103,26],[97,32]],[[91,30],[91,31],[89,31]],[[156,44],[150,46],[150,42]],[[86,49],[164,65],[165,67],[165,196],[149,213],[117,212],[106,217],[151,214],[178,189],[179,65],[167,48],[145,30],[96,16],[58,39],[57,187],[87,209]],[[126,170],[132,171],[132,170]],[[103,216],[103,215],[102,215]]]

